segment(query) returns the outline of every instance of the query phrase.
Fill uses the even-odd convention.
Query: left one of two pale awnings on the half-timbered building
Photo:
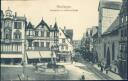
[[[27,57],[28,59],[40,59],[41,58],[39,51],[28,51]]]

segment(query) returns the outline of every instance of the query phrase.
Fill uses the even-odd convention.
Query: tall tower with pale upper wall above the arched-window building
[[[112,23],[117,18],[121,8],[121,3],[116,1],[105,1],[100,0],[99,2],[99,26],[98,26],[98,46],[97,46],[97,52],[98,52],[98,61],[101,62],[104,60],[104,48],[103,46],[103,39],[101,37],[102,34],[107,32],[109,27],[112,25]]]

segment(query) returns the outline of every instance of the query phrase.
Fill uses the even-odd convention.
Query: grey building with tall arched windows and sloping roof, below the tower
[[[119,17],[112,23],[108,30],[102,34],[102,60],[104,67],[110,67],[111,71],[119,73],[118,71],[118,57],[119,53]]]

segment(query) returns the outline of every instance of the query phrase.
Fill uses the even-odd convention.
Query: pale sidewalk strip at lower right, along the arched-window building
[[[98,67],[97,64],[93,64],[93,67],[95,67],[96,69],[98,69],[100,71],[100,67]],[[104,74],[106,74],[106,71],[103,71]],[[107,76],[111,77],[114,80],[123,80],[118,74],[115,74],[111,71],[108,71],[108,74],[106,74]]]

